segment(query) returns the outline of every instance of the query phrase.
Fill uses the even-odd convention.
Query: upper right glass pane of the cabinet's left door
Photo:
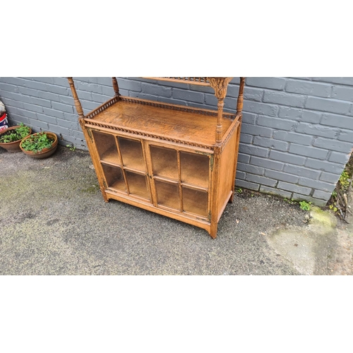
[[[121,159],[124,167],[145,171],[145,161],[140,141],[119,137]]]

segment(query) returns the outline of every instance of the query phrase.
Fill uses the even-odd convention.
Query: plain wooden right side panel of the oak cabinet
[[[236,155],[236,144],[237,142],[237,129],[234,131],[233,135],[227,141],[227,145],[222,150],[220,155],[220,183],[218,189],[218,220],[222,215],[225,205],[229,201],[230,196],[232,195],[233,186],[234,186],[234,162]]]

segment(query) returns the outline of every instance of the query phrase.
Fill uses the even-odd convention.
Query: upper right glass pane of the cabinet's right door
[[[180,152],[181,182],[208,188],[209,157]]]

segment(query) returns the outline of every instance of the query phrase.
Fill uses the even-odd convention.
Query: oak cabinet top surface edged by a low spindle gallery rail
[[[238,117],[223,113],[222,136]],[[85,122],[175,142],[192,141],[193,145],[213,148],[217,111],[120,96],[90,112],[85,116]]]

